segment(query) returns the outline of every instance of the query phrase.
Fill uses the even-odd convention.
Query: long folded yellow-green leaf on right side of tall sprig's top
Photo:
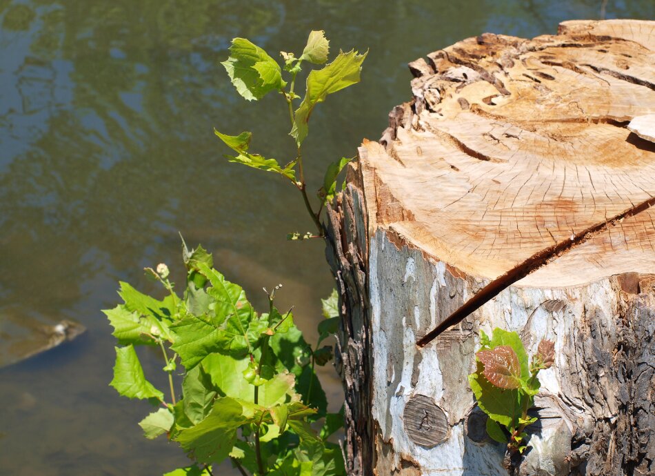
[[[328,66],[310,72],[307,77],[305,98],[296,110],[294,125],[290,132],[298,146],[307,137],[308,121],[314,106],[325,101],[325,97],[329,94],[359,83],[359,72],[366,54],[358,54],[354,50],[347,53],[339,52],[339,56]]]

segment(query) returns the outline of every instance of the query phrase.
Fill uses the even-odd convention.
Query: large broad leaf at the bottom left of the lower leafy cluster
[[[182,430],[175,439],[198,462],[219,463],[228,457],[236,442],[236,430],[247,421],[239,401],[219,398],[202,422]]]

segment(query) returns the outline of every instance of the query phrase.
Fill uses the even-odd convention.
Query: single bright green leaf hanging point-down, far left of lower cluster
[[[114,349],[116,350],[116,364],[110,386],[114,387],[123,397],[163,400],[163,393],[145,379],[134,346],[114,347]]]

